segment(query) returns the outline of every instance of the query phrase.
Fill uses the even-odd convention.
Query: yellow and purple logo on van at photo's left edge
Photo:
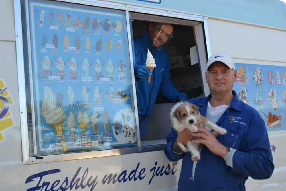
[[[0,80],[0,141],[4,140],[3,132],[1,131],[13,125],[13,120],[9,112],[9,107],[12,103],[12,98],[9,96],[4,80]]]

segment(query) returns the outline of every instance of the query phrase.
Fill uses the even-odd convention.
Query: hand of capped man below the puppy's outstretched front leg
[[[194,143],[201,143],[201,144],[206,145],[206,147],[208,147],[208,149],[212,153],[219,155],[222,158],[225,157],[225,155],[229,152],[228,147],[222,145],[208,129],[199,128],[198,133],[191,133],[190,136],[193,136],[194,138],[200,138],[200,139],[196,139],[192,141]],[[179,138],[179,135],[178,135],[178,138]]]

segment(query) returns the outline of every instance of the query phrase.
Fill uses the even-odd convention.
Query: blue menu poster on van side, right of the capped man
[[[283,66],[235,63],[234,90],[255,108],[268,131],[286,129],[286,69]]]

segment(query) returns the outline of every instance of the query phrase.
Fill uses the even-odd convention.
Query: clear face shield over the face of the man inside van
[[[155,24],[151,29],[153,46],[161,49],[173,37],[173,26],[169,24]]]

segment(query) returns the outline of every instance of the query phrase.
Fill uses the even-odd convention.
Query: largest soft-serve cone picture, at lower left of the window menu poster
[[[56,135],[64,136],[63,123],[66,114],[64,113],[61,103],[56,100],[52,89],[48,86],[44,87],[42,116],[46,120],[47,124],[54,129]],[[60,140],[60,143],[64,142],[64,140]],[[62,149],[64,152],[67,151],[66,146],[62,146]]]

